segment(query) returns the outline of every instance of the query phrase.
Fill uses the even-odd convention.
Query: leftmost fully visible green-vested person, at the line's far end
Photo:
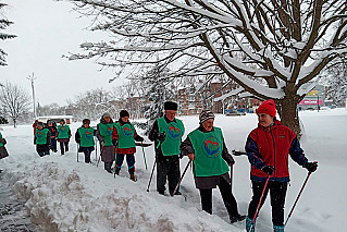
[[[37,123],[35,131],[34,144],[36,144],[36,151],[40,157],[49,155],[49,145],[51,144],[51,133],[44,127],[42,122]]]

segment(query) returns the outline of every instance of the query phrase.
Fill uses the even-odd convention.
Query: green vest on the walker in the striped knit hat
[[[196,129],[188,134],[195,150],[195,176],[221,175],[228,172],[228,166],[222,157],[223,134],[219,127],[203,133]]]

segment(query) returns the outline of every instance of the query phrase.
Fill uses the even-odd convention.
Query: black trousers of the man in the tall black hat
[[[170,195],[173,194],[179,181],[179,158],[178,156],[168,156],[157,163],[157,191],[164,194],[166,179],[169,182]],[[178,191],[178,190],[177,190]]]

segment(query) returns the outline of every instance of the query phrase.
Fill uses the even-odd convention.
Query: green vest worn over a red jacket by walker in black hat
[[[135,147],[135,127],[132,123],[121,125],[120,122],[115,123],[116,132],[119,134],[119,148]]]

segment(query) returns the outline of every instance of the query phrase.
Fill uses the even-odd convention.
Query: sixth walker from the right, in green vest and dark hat
[[[90,163],[90,154],[95,150],[94,136],[96,135],[96,130],[90,127],[89,119],[84,119],[82,123],[82,126],[75,133],[75,141],[79,145],[78,152],[84,152],[85,162]]]

